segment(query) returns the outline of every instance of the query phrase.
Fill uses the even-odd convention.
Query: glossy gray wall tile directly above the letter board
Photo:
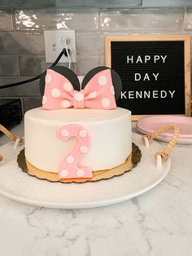
[[[102,9],[102,30],[182,29],[184,8]]]

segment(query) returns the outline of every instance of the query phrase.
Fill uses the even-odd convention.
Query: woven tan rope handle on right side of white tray
[[[149,140],[152,140],[152,139],[155,139],[155,137],[157,137],[158,135],[163,134],[167,130],[174,130],[171,141],[168,143],[168,146],[163,151],[155,153],[155,158],[158,155],[160,155],[163,161],[166,161],[168,159],[168,156],[172,151],[172,148],[174,148],[175,144],[177,143],[177,139],[179,138],[179,134],[180,134],[179,127],[176,125],[163,126],[161,129],[156,130],[155,132],[152,132],[150,135],[142,136],[142,143],[144,143],[145,137]]]

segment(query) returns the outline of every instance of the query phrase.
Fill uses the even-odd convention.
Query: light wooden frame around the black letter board
[[[184,42],[184,59],[185,59],[185,114],[177,116],[190,117],[190,35],[142,35],[142,36],[106,36],[105,37],[105,64],[111,68],[111,42],[120,41],[183,41]],[[162,113],[163,114],[163,113]],[[137,121],[142,117],[151,115],[133,115],[132,121]]]

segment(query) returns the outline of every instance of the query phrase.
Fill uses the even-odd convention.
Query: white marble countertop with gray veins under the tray
[[[0,195],[2,256],[190,256],[191,241],[192,144],[177,144],[157,187],[117,205],[53,210]]]

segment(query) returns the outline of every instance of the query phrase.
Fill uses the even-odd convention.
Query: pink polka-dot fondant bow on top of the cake
[[[105,69],[92,77],[84,90],[74,90],[68,78],[52,69],[46,71],[46,86],[42,108],[116,108],[111,70]]]

